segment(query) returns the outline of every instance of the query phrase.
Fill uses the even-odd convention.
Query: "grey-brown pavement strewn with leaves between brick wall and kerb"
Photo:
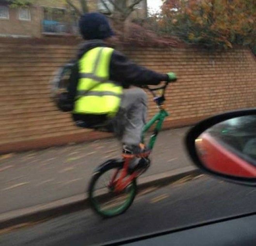
[[[192,165],[183,147],[188,129],[159,133],[152,165],[142,177]],[[84,193],[93,169],[120,153],[115,139],[104,139],[0,156],[0,214]]]

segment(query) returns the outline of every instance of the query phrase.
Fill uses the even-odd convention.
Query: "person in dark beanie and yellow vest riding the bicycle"
[[[111,128],[121,140],[125,154],[147,152],[141,144],[147,94],[138,87],[173,81],[175,74],[140,67],[111,48],[114,32],[102,14],[82,15],[79,27],[85,43],[70,76],[73,119],[77,125],[86,128],[102,125]],[[130,88],[132,85],[138,87]]]

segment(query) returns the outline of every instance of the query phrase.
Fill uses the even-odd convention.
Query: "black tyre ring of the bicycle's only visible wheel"
[[[133,200],[136,196],[137,193],[137,182],[136,179],[133,179],[133,181],[131,182],[131,193],[128,196],[128,199],[126,200],[125,204],[123,206],[121,206],[120,208],[117,208],[116,210],[112,210],[111,212],[106,212],[103,211],[102,209],[100,209],[99,205],[97,204],[97,201],[95,200],[94,196],[93,196],[93,192],[94,192],[94,188],[95,188],[95,184],[97,183],[98,179],[107,171],[111,170],[111,169],[122,169],[123,168],[123,162],[118,162],[118,161],[108,161],[105,164],[99,166],[99,168],[97,169],[97,171],[95,171],[95,173],[93,174],[93,177],[90,181],[89,184],[89,189],[88,189],[88,197],[89,197],[89,201],[90,201],[90,205],[93,209],[94,212],[96,212],[96,214],[100,215],[103,218],[111,218],[120,214],[123,214],[124,212],[126,212],[126,210],[131,206],[131,204],[133,203]]]

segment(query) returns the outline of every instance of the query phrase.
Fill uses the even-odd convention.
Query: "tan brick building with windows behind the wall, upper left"
[[[80,8],[79,0],[72,0]],[[113,9],[107,2],[109,9]],[[107,14],[100,0],[88,0],[89,11]],[[131,18],[147,16],[147,1],[143,0]],[[78,17],[64,0],[34,0],[28,7],[12,7],[10,1],[0,0],[0,37],[63,36],[78,34]]]

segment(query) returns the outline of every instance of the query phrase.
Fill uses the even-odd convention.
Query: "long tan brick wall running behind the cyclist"
[[[70,39],[0,39],[0,153],[109,136],[76,128],[50,101],[49,80],[74,57]],[[132,60],[159,72],[173,71],[165,127],[195,123],[231,109],[256,106],[256,60],[237,48],[208,53],[194,48],[126,48]],[[157,109],[149,96],[149,117]]]

